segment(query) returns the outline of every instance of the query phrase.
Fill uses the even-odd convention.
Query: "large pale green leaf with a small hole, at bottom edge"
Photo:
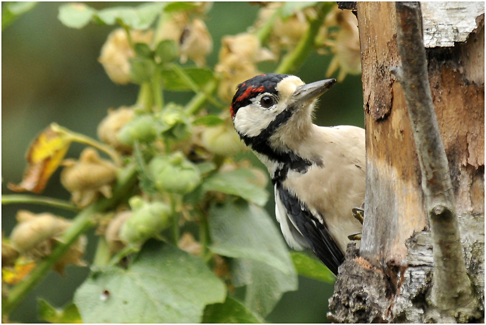
[[[93,271],[74,294],[84,323],[199,323],[226,288],[199,257],[147,241],[127,268]]]

